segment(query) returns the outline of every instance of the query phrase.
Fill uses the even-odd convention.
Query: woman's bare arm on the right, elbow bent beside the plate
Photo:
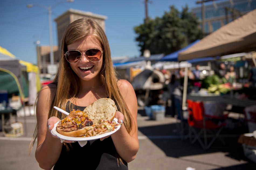
[[[119,131],[112,134],[111,137],[116,147],[117,153],[123,158],[123,160],[130,162],[135,159],[139,150],[137,127],[138,104],[133,87],[128,81],[119,80],[118,85],[124,98],[124,102],[132,114],[133,120],[131,121],[133,121],[133,127],[130,133],[128,133],[126,128],[121,125]]]

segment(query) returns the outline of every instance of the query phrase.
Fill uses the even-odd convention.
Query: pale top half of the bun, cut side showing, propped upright
[[[100,98],[84,109],[84,113],[98,124],[99,119],[112,121],[115,118],[117,107],[115,102],[110,98]]]

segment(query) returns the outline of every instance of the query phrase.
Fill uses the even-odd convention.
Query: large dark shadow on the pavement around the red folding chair
[[[142,113],[143,115],[143,113]],[[148,120],[154,121],[154,120]],[[199,142],[194,144],[189,143],[189,139],[182,141],[179,138],[176,130],[176,123],[153,125],[147,127],[139,127],[138,130],[147,136],[156,146],[158,146],[168,157],[175,157],[179,159],[184,159],[185,156],[193,156],[200,154],[210,154],[222,152],[226,153],[226,157],[241,161],[247,161],[248,163],[233,165],[225,168],[218,168],[218,170],[229,170],[229,169],[255,169],[255,163],[248,160],[243,153],[243,148],[241,144],[237,142],[239,136],[244,133],[248,133],[248,127],[243,126],[235,129],[223,129],[220,135],[223,136],[226,145],[223,145],[218,139],[212,144],[208,150],[203,150]],[[225,137],[229,135],[229,137]],[[230,136],[231,135],[231,136]],[[198,162],[195,160],[186,160]],[[207,162],[200,162],[201,164],[210,164]],[[210,164],[211,165],[211,164]],[[213,164],[212,164],[213,165]],[[219,166],[215,165],[214,166]]]

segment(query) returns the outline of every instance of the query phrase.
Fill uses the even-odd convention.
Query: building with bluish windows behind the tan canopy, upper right
[[[223,25],[254,9],[256,9],[256,0],[227,0],[219,3],[218,1],[205,3],[205,34],[216,31]],[[202,8],[192,8],[191,12],[199,18],[202,28]]]

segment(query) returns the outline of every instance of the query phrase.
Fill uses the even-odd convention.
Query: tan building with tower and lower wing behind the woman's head
[[[54,74],[54,69],[59,62],[59,52],[61,45],[61,39],[67,26],[75,20],[81,18],[91,18],[94,19],[101,27],[105,30],[105,20],[106,16],[94,14],[91,12],[85,12],[76,9],[69,9],[55,19],[57,24],[57,35],[58,35],[58,45],[53,47],[54,51],[54,65],[50,65],[50,46],[39,46],[37,45],[37,65],[40,68],[40,73],[43,74]]]

